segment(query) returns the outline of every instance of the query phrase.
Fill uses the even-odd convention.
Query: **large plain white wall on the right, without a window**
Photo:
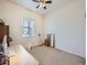
[[[55,34],[55,46],[85,57],[85,0],[76,0],[45,17],[45,34]]]

